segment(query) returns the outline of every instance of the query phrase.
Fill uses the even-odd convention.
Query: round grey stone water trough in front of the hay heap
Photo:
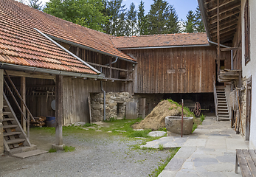
[[[181,134],[181,117],[170,116],[165,117],[165,127],[167,131]],[[192,133],[193,117],[183,117],[183,134]]]

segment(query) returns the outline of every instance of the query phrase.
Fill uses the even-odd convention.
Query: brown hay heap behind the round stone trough
[[[151,129],[152,131],[157,131],[159,128],[165,128],[165,117],[167,116],[181,116],[181,105],[164,100],[156,105],[153,111],[151,111],[151,114],[148,114],[145,119],[131,127],[134,129]],[[184,110],[184,116],[190,116],[190,113]]]

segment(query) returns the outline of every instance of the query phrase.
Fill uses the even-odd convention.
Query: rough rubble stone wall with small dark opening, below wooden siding
[[[105,94],[105,119],[111,117],[122,119],[126,113],[126,103],[138,99],[128,92],[108,92]],[[137,104],[138,105],[138,104]],[[138,114],[138,106],[137,106]],[[138,115],[136,115],[138,117]],[[91,119],[93,122],[103,121],[103,93],[91,94]]]

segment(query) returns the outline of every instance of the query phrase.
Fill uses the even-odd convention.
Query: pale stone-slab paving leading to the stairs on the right
[[[148,142],[144,147],[181,148],[167,164],[159,177],[231,177],[241,176],[240,168],[235,173],[235,149],[248,149],[241,135],[230,128],[229,121],[216,121],[206,117],[192,134],[181,136],[168,133],[161,139]]]

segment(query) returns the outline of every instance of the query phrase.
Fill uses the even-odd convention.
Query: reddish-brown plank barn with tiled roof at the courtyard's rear
[[[117,37],[111,41],[136,59],[133,91],[147,98],[147,113],[168,97],[177,102],[183,98],[204,103],[204,109],[214,107],[217,52],[205,33]],[[230,54],[221,57],[223,67],[230,68],[226,60]]]

